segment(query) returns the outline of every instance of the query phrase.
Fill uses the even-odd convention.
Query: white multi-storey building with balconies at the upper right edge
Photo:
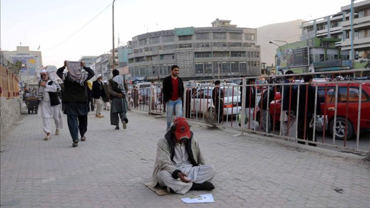
[[[352,24],[351,5],[343,6],[340,10],[337,14],[303,22],[300,25],[302,40],[312,37],[340,38],[335,46],[341,49],[341,54],[349,55],[350,68],[363,68],[364,63],[360,63],[360,60],[370,56],[370,0],[354,1]],[[352,57],[351,25],[354,50]]]

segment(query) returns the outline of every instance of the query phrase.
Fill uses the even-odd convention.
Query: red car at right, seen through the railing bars
[[[335,112],[335,85],[327,83],[326,98],[325,98],[325,83],[317,86],[317,93],[321,101],[321,113],[326,114],[329,123],[329,132],[333,135],[334,125],[334,112]],[[349,95],[347,102],[347,83],[338,84],[338,101],[337,101],[337,120],[335,124],[335,138],[337,140],[344,140],[345,126],[346,126],[346,107],[348,103],[348,120],[347,120],[347,139],[352,138],[357,133],[357,117],[359,113],[359,98],[361,98],[361,117],[360,117],[360,130],[370,130],[370,82],[363,83],[361,97],[359,97],[359,83],[350,83]],[[277,94],[279,94],[277,96]],[[314,98],[312,98],[314,99]],[[275,101],[270,103],[269,111],[270,116],[275,121],[275,125],[280,124],[280,110],[281,98],[280,93],[276,93]],[[326,111],[325,111],[326,108]],[[275,117],[274,117],[275,111]],[[259,118],[259,111],[257,119]],[[271,125],[272,126],[272,125]]]

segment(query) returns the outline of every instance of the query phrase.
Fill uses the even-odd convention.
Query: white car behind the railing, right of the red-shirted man
[[[215,112],[212,101],[212,90],[215,87],[199,87],[192,95],[190,101],[191,112],[194,113],[211,113]],[[242,109],[239,86],[222,86],[223,90],[223,115],[237,115]]]

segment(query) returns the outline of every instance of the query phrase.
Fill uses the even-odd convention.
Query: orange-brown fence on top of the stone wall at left
[[[17,77],[7,68],[0,66],[0,97],[7,99],[19,96]]]

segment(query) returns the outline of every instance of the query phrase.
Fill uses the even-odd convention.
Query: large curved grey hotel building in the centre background
[[[255,28],[216,19],[212,27],[186,27],[132,38],[128,68],[132,77],[159,80],[180,67],[185,80],[260,75],[260,47]]]

